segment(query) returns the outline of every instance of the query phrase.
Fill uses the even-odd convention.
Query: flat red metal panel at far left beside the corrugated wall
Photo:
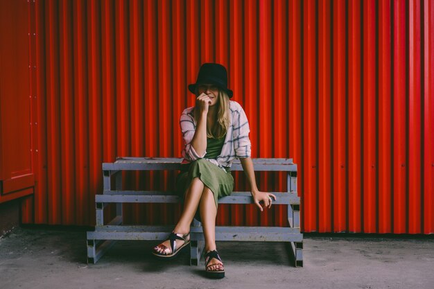
[[[33,194],[35,185],[29,10],[26,1],[0,2],[0,203]]]

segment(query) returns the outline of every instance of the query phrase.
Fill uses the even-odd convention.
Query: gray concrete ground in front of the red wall
[[[284,243],[218,242],[226,277],[204,277],[183,252],[156,261],[155,242],[120,241],[86,263],[85,231],[15,228],[0,238],[0,288],[434,288],[433,238],[304,234],[304,267]]]

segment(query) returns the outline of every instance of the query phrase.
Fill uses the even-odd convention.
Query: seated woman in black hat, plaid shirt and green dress
[[[232,161],[241,160],[248,177],[252,198],[259,209],[271,207],[272,193],[261,192],[254,177],[250,159],[248,119],[241,105],[227,88],[227,71],[216,63],[200,67],[196,83],[189,85],[196,95],[195,107],[182,112],[180,126],[184,139],[182,169],[176,186],[184,195],[184,210],[175,229],[163,243],[153,249],[162,259],[177,255],[190,242],[193,218],[202,222],[205,236],[205,272],[208,277],[223,278],[223,261],[216,249],[216,216],[218,198],[232,193],[234,178],[230,173]]]

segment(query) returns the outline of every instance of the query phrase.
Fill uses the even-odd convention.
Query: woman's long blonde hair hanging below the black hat
[[[196,94],[197,95],[197,94]],[[221,139],[227,132],[230,123],[229,114],[229,96],[226,91],[218,89],[217,96],[217,122],[214,124],[214,128],[209,127],[207,122],[207,137],[211,139]],[[199,112],[194,110],[194,120],[198,123]]]

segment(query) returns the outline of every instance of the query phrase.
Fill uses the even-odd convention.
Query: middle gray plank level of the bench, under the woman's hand
[[[270,192],[276,195],[277,200],[272,204],[300,204],[297,193]],[[177,203],[181,198],[175,192],[161,191],[104,191],[103,195],[95,195],[95,202],[116,203]],[[254,204],[250,192],[232,192],[227,197],[220,198],[219,204]]]

